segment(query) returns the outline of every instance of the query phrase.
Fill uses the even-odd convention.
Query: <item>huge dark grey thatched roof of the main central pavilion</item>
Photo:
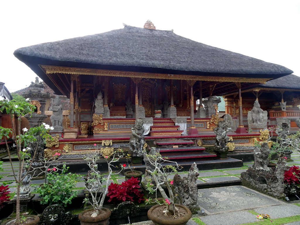
[[[17,49],[14,55],[29,67],[46,64],[211,76],[228,76],[229,73],[230,76],[244,77],[264,74],[259,77],[268,78],[293,72],[286,67],[208,46],[173,32],[131,26],[23,47]]]

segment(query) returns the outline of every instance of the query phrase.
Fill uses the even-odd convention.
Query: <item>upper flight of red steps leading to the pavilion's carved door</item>
[[[181,136],[183,131],[178,130],[170,118],[153,118],[153,126],[150,128],[150,136]]]

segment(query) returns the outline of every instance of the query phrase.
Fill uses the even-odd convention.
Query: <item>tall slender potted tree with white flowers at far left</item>
[[[33,160],[26,160],[30,158],[29,150],[31,153],[33,153],[32,158],[34,159],[37,155],[37,149],[38,145],[36,145],[36,149],[29,149],[26,146],[30,142],[40,142],[43,140],[45,142],[47,137],[51,136],[47,133],[49,129],[53,129],[49,125],[43,124],[38,127],[30,128],[29,130],[27,128],[22,129],[21,133],[21,117],[25,116],[26,114],[30,113],[32,114],[35,110],[35,106],[29,103],[29,99],[26,99],[26,101],[18,102],[16,100],[8,101],[7,99],[4,99],[3,97],[0,97],[0,112],[6,112],[10,115],[10,122],[12,125],[12,129],[10,128],[3,128],[0,127],[0,139],[4,139],[7,147],[7,153],[10,160],[10,165],[13,171],[13,177],[16,181],[16,218],[11,219],[14,220],[13,223],[15,224],[21,224],[26,220],[26,216],[22,218],[20,217],[20,193],[21,193],[21,186],[22,183],[29,183],[30,177],[29,174],[29,168],[32,166]],[[14,122],[14,118],[16,118],[16,124]],[[9,138],[9,135],[12,134],[15,142],[16,142],[16,148],[17,148],[17,155],[16,157],[19,160],[18,164],[18,171],[16,171],[13,167],[11,158],[9,152],[9,146],[7,144],[7,139]],[[29,190],[28,190],[29,191]],[[29,220],[32,220],[38,223],[39,218],[37,216],[31,216],[34,218],[31,218]],[[22,220],[21,220],[22,219]],[[6,222],[2,224],[10,224],[12,222],[11,220],[7,220]]]

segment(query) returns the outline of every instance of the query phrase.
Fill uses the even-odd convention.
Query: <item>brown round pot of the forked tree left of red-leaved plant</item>
[[[87,209],[79,213],[78,219],[80,220],[81,225],[109,225],[110,224],[110,215],[112,212],[108,208],[102,208],[100,214],[96,217],[85,216],[84,213],[93,211],[93,208]]]

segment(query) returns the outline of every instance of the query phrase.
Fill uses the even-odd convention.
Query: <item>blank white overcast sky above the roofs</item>
[[[300,76],[298,0],[8,0],[1,1],[1,76],[10,92],[25,88],[36,74],[14,50],[121,29],[123,23],[156,29],[214,47],[280,64]]]

